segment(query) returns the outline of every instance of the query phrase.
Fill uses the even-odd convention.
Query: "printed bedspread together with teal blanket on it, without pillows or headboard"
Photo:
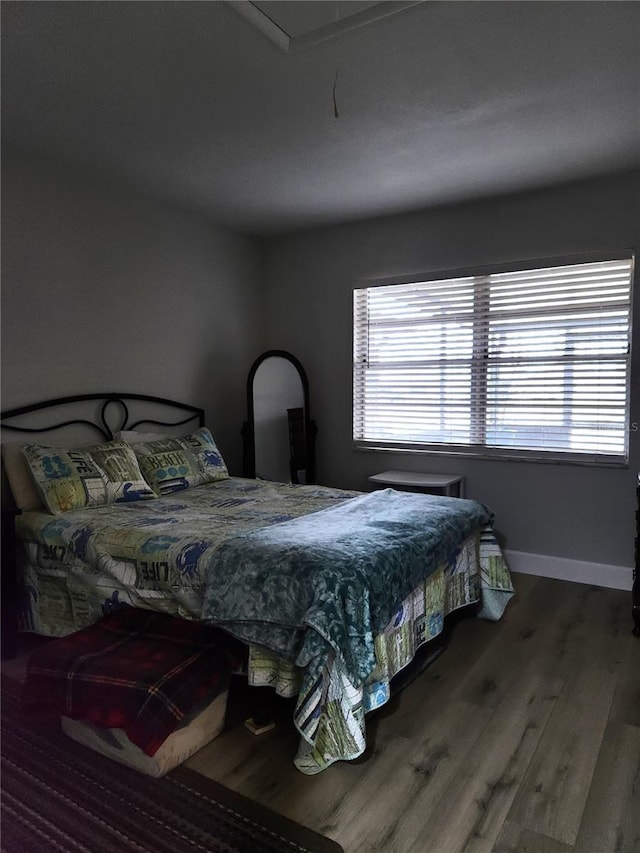
[[[250,683],[297,697],[295,763],[317,773],[363,752],[365,713],[446,614],[481,600],[500,618],[513,587],[490,520],[474,501],[238,478],[24,513],[20,622],[63,636],[130,605],[224,625],[250,643]]]

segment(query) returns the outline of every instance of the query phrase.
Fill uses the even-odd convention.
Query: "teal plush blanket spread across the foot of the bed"
[[[384,489],[232,536],[211,560],[202,618],[313,670],[333,650],[360,684],[399,604],[492,519],[477,501]]]

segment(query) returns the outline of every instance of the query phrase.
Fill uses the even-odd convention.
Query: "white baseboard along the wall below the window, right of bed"
[[[568,560],[548,554],[527,554],[524,551],[505,551],[507,564],[512,572],[538,575],[542,578],[588,583],[611,589],[631,589],[633,569],[627,566],[609,566],[606,563],[588,563],[584,560]]]

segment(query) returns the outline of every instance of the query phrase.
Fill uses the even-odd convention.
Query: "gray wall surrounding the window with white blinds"
[[[265,240],[265,344],[304,364],[317,420],[318,478],[367,488],[389,468],[460,472],[489,504],[511,550],[631,566],[640,433],[628,469],[489,462],[355,451],[351,432],[352,291],[360,279],[453,270],[640,243],[638,176],[442,208]],[[640,422],[640,299],[631,422]]]

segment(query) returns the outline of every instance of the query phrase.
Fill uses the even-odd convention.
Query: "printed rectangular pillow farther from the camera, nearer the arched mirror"
[[[145,480],[158,495],[229,478],[220,451],[205,427],[182,438],[135,444],[133,450]]]

